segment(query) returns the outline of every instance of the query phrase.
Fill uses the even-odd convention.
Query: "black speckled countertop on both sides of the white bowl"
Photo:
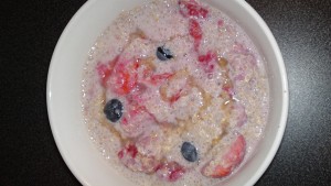
[[[290,90],[282,143],[256,185],[331,185],[331,1],[247,1],[279,44]],[[0,6],[0,185],[79,185],[52,136],[46,77],[56,42],[84,2]]]

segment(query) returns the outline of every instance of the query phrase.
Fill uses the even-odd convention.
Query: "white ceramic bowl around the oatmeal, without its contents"
[[[54,51],[47,79],[47,110],[56,145],[73,174],[86,186],[134,185],[111,168],[90,142],[81,112],[81,80],[87,53],[121,10],[143,0],[89,0],[65,28]],[[288,113],[288,83],[278,45],[261,18],[244,0],[206,0],[236,20],[267,61],[270,116],[254,157],[224,185],[254,185],[281,142]]]

